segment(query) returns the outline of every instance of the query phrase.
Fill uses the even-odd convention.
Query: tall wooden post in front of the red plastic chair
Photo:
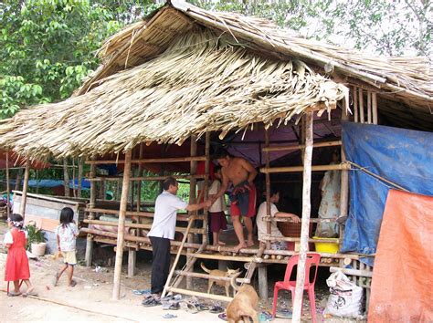
[[[302,185],[302,224],[301,224],[301,250],[296,275],[295,299],[293,302],[292,322],[301,321],[301,307],[303,287],[305,283],[305,261],[308,252],[308,238],[310,228],[310,214],[312,209],[312,112],[306,113],[305,121],[305,153],[303,158],[303,185]],[[308,277],[307,277],[308,279]]]

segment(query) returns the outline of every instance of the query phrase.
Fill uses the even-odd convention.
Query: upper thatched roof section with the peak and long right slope
[[[274,57],[298,57],[319,68],[327,66],[348,83],[371,86],[385,99],[400,100],[429,113],[433,104],[433,70],[427,57],[376,57],[297,36],[265,19],[236,13],[210,12],[183,1],[171,1],[149,21],[129,26],[100,49],[103,64],[79,89],[79,94],[126,67],[160,54],[194,24],[232,36],[238,45]]]

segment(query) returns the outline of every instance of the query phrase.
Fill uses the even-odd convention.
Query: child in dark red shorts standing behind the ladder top
[[[221,187],[221,166],[216,166],[214,169],[216,179],[209,188],[209,198],[212,199],[218,193]],[[227,219],[224,211],[226,210],[226,203],[224,202],[224,195],[216,199],[216,202],[209,208],[210,217],[210,231],[213,234],[214,245],[226,245],[219,240],[219,234],[222,230],[227,229]]]

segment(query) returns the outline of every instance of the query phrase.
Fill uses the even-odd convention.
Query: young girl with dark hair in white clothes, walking
[[[77,283],[72,279],[74,266],[77,264],[75,240],[79,235],[77,225],[74,223],[74,212],[70,207],[64,207],[60,212],[60,224],[56,229],[58,251],[63,254],[65,265],[56,273],[54,286],[58,285],[58,279],[66,269],[68,270],[68,285],[74,287]]]

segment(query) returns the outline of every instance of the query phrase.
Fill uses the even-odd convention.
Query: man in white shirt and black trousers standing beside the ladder
[[[170,240],[174,239],[176,214],[178,210],[196,211],[209,207],[210,202],[188,204],[176,196],[178,183],[173,177],[164,180],[164,192],[155,201],[153,224],[147,234],[152,243],[153,263],[151,293],[149,299],[143,301],[144,306],[159,304],[164,285],[170,270]]]

